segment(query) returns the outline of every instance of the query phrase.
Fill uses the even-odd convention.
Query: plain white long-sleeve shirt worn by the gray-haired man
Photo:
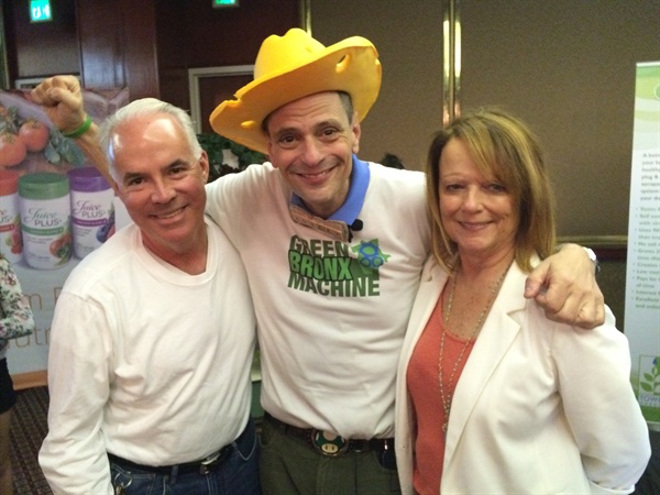
[[[89,254],[57,300],[48,435],[55,493],[111,493],[107,452],[147,465],[202,459],[250,415],[255,320],[243,265],[207,223],[207,270],[154,257],[133,224]]]

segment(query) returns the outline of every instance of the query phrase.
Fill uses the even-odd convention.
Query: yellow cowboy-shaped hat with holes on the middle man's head
[[[295,28],[263,43],[254,64],[254,80],[213,110],[213,130],[237,143],[266,151],[263,120],[279,107],[321,91],[351,95],[362,121],[381,89],[381,63],[374,45],[364,37],[348,37],[323,46]]]

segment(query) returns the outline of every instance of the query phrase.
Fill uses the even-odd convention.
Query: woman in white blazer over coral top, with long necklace
[[[612,311],[581,330],[521,295],[556,249],[536,138],[482,110],[441,131],[428,158],[433,255],[397,381],[403,493],[630,493],[650,444]]]

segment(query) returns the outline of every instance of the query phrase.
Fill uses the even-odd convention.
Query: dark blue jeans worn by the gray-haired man
[[[232,443],[232,452],[208,474],[157,474],[110,463],[112,485],[125,495],[261,495],[258,442],[252,419]]]

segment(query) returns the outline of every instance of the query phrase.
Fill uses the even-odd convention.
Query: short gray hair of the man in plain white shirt
[[[174,119],[182,125],[184,135],[186,141],[188,141],[188,145],[190,146],[190,152],[193,155],[196,157],[201,156],[202,148],[197,140],[197,134],[195,133],[195,128],[193,127],[193,120],[185,110],[156,98],[142,98],[132,101],[125,107],[117,110],[112,116],[108,117],[99,128],[99,141],[101,144],[101,150],[108,157],[111,174],[112,172],[116,172],[114,153],[111,148],[114,129],[119,124],[136,117],[153,116],[156,113],[166,113],[173,116]]]

